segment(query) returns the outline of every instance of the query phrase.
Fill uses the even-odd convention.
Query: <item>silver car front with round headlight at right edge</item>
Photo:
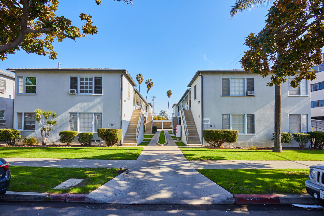
[[[309,179],[305,185],[309,195],[324,203],[324,164],[309,167]]]

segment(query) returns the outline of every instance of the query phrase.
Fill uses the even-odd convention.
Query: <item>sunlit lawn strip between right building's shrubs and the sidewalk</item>
[[[276,161],[322,161],[324,150],[272,150],[181,148],[187,160],[276,160]]]

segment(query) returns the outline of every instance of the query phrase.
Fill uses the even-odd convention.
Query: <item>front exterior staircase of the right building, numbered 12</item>
[[[187,146],[202,146],[191,110],[183,110],[183,113],[186,118],[189,134]],[[184,134],[184,136],[186,136],[186,134]]]

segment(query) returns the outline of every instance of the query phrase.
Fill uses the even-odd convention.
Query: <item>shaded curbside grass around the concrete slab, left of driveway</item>
[[[81,193],[88,194],[121,174],[116,168],[57,168],[10,166],[11,181],[8,190],[19,192]],[[80,186],[53,189],[70,178],[84,179]]]

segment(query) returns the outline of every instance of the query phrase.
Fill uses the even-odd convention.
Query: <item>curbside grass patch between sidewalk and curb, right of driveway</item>
[[[306,194],[308,169],[197,170],[232,194]]]

